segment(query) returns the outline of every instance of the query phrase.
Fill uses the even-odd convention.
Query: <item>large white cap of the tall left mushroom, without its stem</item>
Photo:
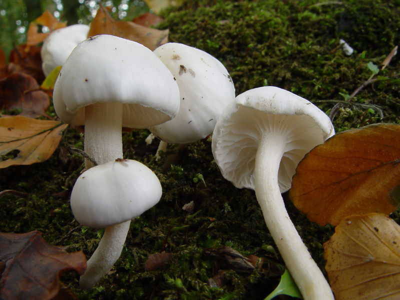
[[[120,102],[123,126],[147,128],[177,113],[179,89],[150,49],[101,34],[72,50],[55,81],[53,102],[61,120],[74,125],[84,124],[84,106]]]

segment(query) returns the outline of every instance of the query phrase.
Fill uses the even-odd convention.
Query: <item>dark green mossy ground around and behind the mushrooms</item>
[[[345,100],[345,95],[368,79],[367,62],[380,66],[399,43],[399,6],[398,0],[189,0],[165,10],[160,28],[169,28],[171,41],[198,47],[221,60],[236,94],[276,85],[329,113],[337,101]],[[354,48],[352,55],[343,53],[340,38]],[[342,105],[334,119],[336,131],[372,122],[400,123],[398,65],[397,55],[378,73],[379,80]],[[146,145],[148,133],[125,132],[124,157],[154,170],[163,187],[160,202],[132,221],[120,259],[93,290],[81,291],[73,273],[62,280],[80,299],[263,299],[279,281],[284,263],[279,255],[265,250],[265,245],[274,243],[254,192],[236,189],[220,175],[210,139],[179,149],[171,146],[155,161],[157,142]],[[68,153],[65,145],[82,148],[82,139],[79,128],[68,128],[49,160],[0,171],[0,190],[27,194],[0,198],[0,231],[38,229],[52,244],[68,245],[68,251],[83,250],[88,256],[92,253],[101,230],[78,226],[68,201],[83,159]],[[197,173],[206,185],[193,182]],[[191,200],[193,212],[182,210]],[[286,202],[296,228],[323,269],[322,243],[333,228],[309,222]],[[205,251],[220,246],[265,261],[251,274],[229,270]],[[171,261],[160,269],[144,271],[148,255],[163,250],[173,253]],[[226,269],[222,284],[211,287],[208,279],[220,267]]]

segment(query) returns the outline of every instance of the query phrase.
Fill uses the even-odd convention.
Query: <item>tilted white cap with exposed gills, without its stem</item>
[[[286,141],[278,170],[280,192],[291,186],[298,162],[334,134],[329,117],[308,100],[275,86],[247,90],[226,107],[212,134],[212,153],[222,175],[236,187],[254,189],[258,141],[265,132]]]

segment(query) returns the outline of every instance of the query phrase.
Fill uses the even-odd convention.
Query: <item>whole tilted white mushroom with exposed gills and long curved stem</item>
[[[290,188],[301,158],[333,134],[323,111],[274,86],[239,94],[212,134],[222,175],[238,188],[255,190],[269,232],[305,300],[330,300],[333,294],[291,222],[281,192]]]

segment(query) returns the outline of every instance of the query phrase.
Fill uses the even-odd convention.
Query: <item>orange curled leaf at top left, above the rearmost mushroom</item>
[[[50,32],[38,32],[38,25],[47,26],[50,31],[66,26],[65,22],[59,22],[49,11],[44,11],[39,17],[29,23],[27,31],[27,46],[36,45],[43,41]]]

